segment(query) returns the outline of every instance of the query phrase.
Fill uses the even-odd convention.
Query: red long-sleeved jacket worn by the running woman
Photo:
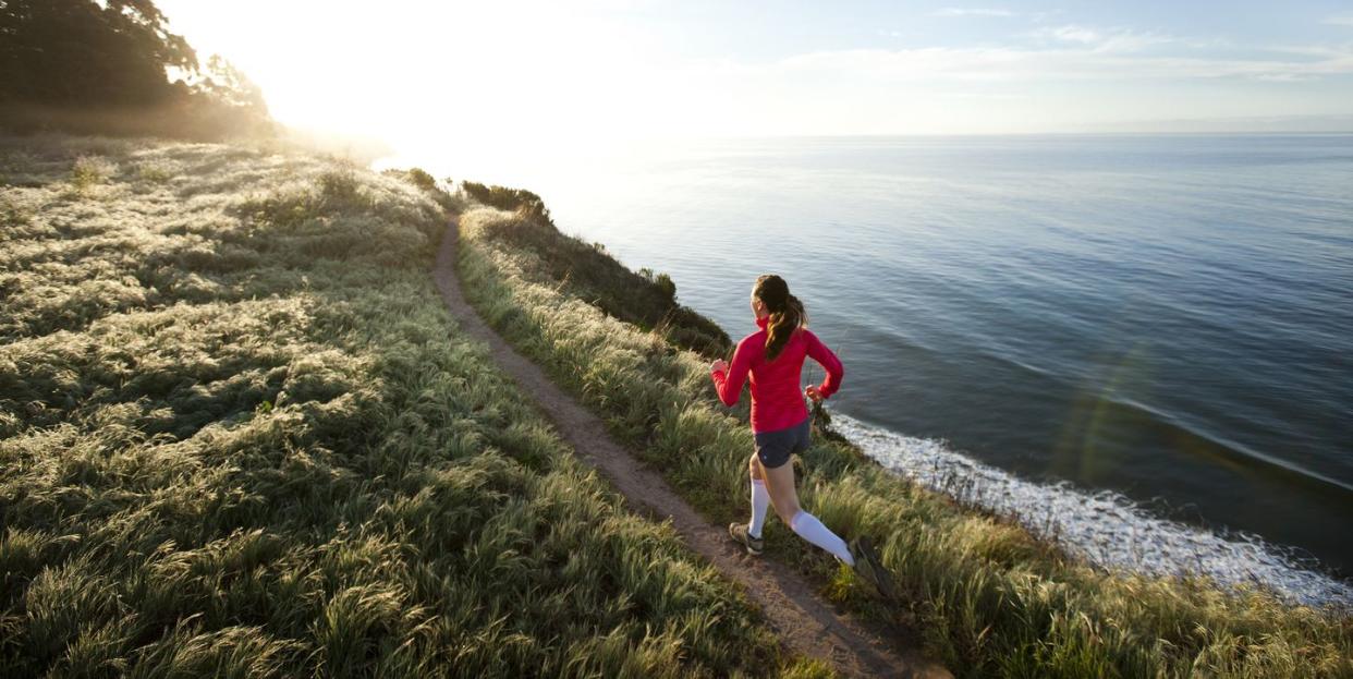
[[[819,390],[823,398],[836,394],[842,385],[846,368],[836,354],[806,327],[789,337],[785,348],[774,361],[766,360],[766,323],[769,317],[758,318],[760,331],[752,333],[737,342],[733,362],[728,375],[710,372],[718,400],[725,406],[737,403],[743,392],[743,381],[752,379],[752,431],[775,431],[798,425],[808,418],[804,394],[798,385],[804,369],[804,358],[812,357],[827,369],[827,379]]]

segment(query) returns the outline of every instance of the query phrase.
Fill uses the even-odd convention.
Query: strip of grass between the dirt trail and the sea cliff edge
[[[521,219],[491,206],[463,215],[460,273],[471,302],[712,521],[744,521],[746,407],[729,414],[716,404],[700,356],[671,350],[560,285],[543,260],[567,252],[566,239],[537,223],[529,229],[538,245],[524,249],[507,235],[528,229]],[[1346,615],[1203,580],[1104,572],[828,437],[802,456],[798,473],[810,511],[846,537],[882,545],[909,603],[890,610],[862,596],[844,568],[778,519],[766,529],[769,553],[813,573],[843,605],[920,630],[959,675],[1353,676]]]

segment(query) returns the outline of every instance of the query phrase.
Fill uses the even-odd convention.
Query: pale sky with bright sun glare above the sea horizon
[[[279,120],[395,146],[1353,120],[1346,0],[157,4]]]

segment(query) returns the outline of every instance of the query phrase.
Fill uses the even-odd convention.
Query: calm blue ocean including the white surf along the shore
[[[706,141],[484,172],[735,338],[756,275],[785,276],[846,364],[835,413],[898,473],[971,479],[1107,565],[1353,602],[1353,135]]]

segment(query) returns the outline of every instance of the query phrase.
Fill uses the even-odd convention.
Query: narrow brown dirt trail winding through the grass
[[[452,220],[437,253],[433,277],[446,307],[464,331],[488,344],[494,360],[526,394],[534,396],[560,436],[635,507],[659,521],[671,518],[691,549],[708,559],[724,576],[740,583],[789,648],[828,660],[836,671],[850,676],[951,676],[917,651],[892,648],[836,613],[813,595],[812,587],[789,568],[735,548],[725,528],[712,526],[701,518],[667,487],[662,475],[644,467],[617,444],[601,419],[564,394],[536,364],[518,354],[479,318],[465,302],[456,277],[456,241],[457,227]]]

